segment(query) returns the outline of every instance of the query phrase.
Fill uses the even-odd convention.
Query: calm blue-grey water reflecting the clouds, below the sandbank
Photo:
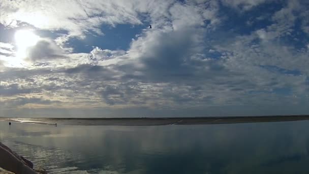
[[[64,126],[0,122],[49,173],[308,173],[309,122]]]

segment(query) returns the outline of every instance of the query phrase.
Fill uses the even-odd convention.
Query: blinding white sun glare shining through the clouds
[[[27,53],[27,49],[31,46],[35,46],[39,41],[39,36],[35,35],[30,30],[19,30],[15,33],[15,42],[17,45],[17,57],[19,59],[24,58]]]

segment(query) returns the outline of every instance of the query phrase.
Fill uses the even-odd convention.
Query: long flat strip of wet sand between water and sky
[[[81,126],[158,126],[207,125],[259,122],[291,122],[309,120],[309,115],[271,115],[255,117],[178,117],[178,118],[0,118],[0,121],[46,125]]]

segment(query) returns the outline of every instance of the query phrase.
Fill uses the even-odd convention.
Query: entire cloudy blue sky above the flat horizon
[[[0,9],[0,117],[309,113],[307,1],[2,0]]]

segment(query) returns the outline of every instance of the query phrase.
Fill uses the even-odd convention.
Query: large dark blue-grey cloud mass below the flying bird
[[[193,30],[162,34],[154,41],[146,42],[145,52],[140,55],[144,65],[141,71],[153,78],[186,78],[195,74],[190,56],[198,45]],[[155,77],[156,76],[156,77]]]

